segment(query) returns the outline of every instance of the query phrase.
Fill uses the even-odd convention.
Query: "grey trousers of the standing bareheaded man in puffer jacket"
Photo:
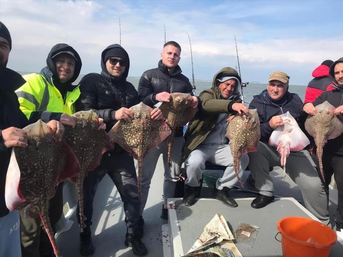
[[[175,137],[172,148],[172,166],[168,166],[168,140],[164,140],[161,144],[151,149],[145,156],[142,164],[142,189],[141,189],[141,208],[142,215],[148,199],[149,188],[152,176],[155,172],[156,164],[159,156],[162,154],[164,166],[164,181],[163,181],[163,198],[164,204],[167,204],[168,198],[173,198],[175,194],[176,181],[179,179],[181,159],[185,140],[183,137]],[[162,170],[158,170],[162,172]]]

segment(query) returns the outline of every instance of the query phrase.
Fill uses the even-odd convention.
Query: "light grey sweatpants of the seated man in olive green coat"
[[[227,166],[224,174],[216,181],[215,187],[219,190],[223,187],[232,188],[238,181],[233,167],[233,158],[229,145],[199,145],[197,146],[185,161],[185,169],[187,173],[186,185],[199,186],[202,173],[205,171],[205,162],[209,161],[212,164]],[[247,154],[242,154],[240,160],[239,175],[242,176],[249,163]]]

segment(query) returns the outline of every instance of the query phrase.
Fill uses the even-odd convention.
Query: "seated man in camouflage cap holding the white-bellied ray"
[[[276,148],[268,145],[268,140],[273,130],[283,125],[280,115],[289,111],[304,131],[303,102],[297,94],[288,92],[289,80],[287,74],[273,72],[268,79],[267,89],[254,96],[249,105],[249,109],[257,109],[261,131],[258,151],[248,153],[249,168],[255,178],[255,187],[260,191],[260,195],[251,203],[255,209],[265,207],[274,199],[269,167],[280,166],[280,157]],[[300,187],[305,207],[324,224],[328,224],[327,196],[309,151],[291,152],[285,168]]]

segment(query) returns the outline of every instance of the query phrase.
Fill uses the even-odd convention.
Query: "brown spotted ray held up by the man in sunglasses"
[[[143,102],[130,108],[131,121],[120,120],[108,132],[113,143],[119,144],[138,161],[138,196],[141,195],[142,162],[148,151],[170,135],[167,124],[151,119],[152,108]]]

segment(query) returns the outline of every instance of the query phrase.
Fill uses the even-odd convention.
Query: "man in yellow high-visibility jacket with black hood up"
[[[80,89],[72,83],[80,74],[81,58],[73,47],[56,44],[46,58],[46,65],[39,74],[23,76],[26,83],[16,90],[20,109],[30,122],[58,120],[74,127],[75,121],[70,115],[75,112],[74,103],[80,96]],[[49,216],[54,232],[54,225],[63,212],[62,189],[63,183],[60,183],[50,199]],[[40,219],[25,218],[23,211],[20,217],[22,256],[54,256]]]

